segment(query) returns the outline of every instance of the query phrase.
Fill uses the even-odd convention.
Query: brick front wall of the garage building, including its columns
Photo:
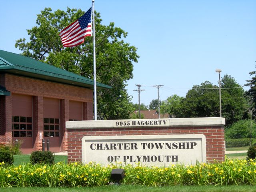
[[[93,90],[72,85],[36,80],[12,74],[0,74],[0,85],[15,94],[33,96],[33,150],[42,150],[43,98],[60,99],[61,148],[67,149],[65,122],[69,120],[68,101],[83,102],[84,120],[93,119]],[[12,142],[12,96],[0,96],[0,143]]]

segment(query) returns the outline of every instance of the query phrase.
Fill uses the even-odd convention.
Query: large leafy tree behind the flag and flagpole
[[[30,40],[16,40],[15,47],[22,50],[24,56],[93,79],[92,37],[86,37],[80,46],[63,48],[58,36],[82,14],[80,9],[52,12],[51,8],[45,8],[37,16],[36,26],[27,30]],[[133,62],[138,62],[137,48],[124,42],[127,32],[115,27],[114,22],[102,25],[100,13],[95,14],[96,80],[113,87],[97,90],[98,116],[100,119],[125,119],[133,109],[125,86],[133,76]]]

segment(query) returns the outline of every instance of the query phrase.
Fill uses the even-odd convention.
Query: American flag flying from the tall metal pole
[[[92,8],[78,20],[64,28],[59,36],[63,47],[74,47],[84,42],[84,37],[92,36]]]

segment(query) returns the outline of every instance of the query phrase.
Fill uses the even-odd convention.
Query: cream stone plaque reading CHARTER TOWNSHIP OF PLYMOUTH
[[[85,136],[82,138],[82,162],[107,165],[122,162],[136,166],[170,164],[193,165],[206,162],[206,138],[203,134]]]

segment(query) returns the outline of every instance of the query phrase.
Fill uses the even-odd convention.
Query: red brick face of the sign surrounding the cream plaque
[[[96,128],[68,129],[68,161],[82,161],[82,138],[84,136],[120,136],[120,135],[161,135],[161,134],[204,134],[206,137],[207,162],[224,161],[224,128],[209,127],[166,127],[166,128]]]

